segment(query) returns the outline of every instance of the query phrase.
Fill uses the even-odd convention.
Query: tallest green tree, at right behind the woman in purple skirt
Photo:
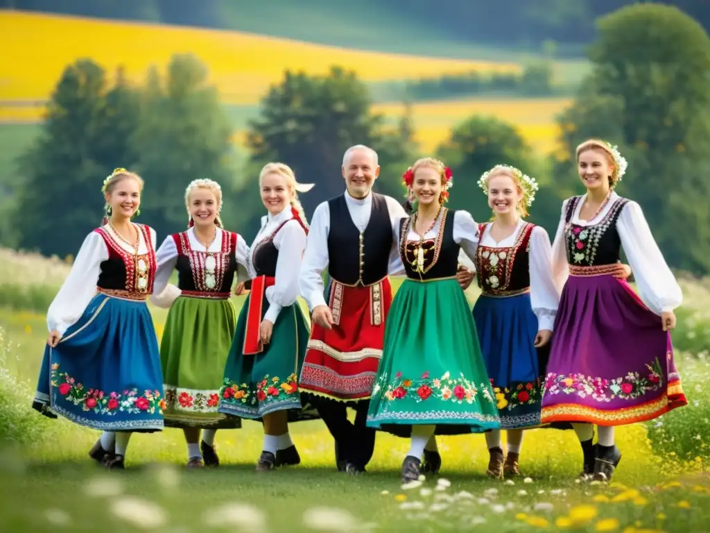
[[[564,151],[589,137],[618,144],[629,163],[619,193],[640,203],[672,266],[707,272],[710,38],[661,4],[628,6],[598,27],[594,68],[559,118]],[[573,158],[557,166],[557,179],[574,176]]]

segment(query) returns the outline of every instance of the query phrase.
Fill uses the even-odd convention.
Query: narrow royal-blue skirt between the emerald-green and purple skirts
[[[496,393],[501,429],[540,426],[542,385],[550,343],[535,348],[537,317],[530,294],[486,296],[474,305],[474,321],[488,377]]]

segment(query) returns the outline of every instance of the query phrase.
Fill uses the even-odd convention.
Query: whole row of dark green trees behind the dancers
[[[476,182],[498,163],[521,168],[540,183],[530,220],[554,235],[562,200],[583,191],[574,149],[589,137],[618,144],[629,166],[618,192],[642,206],[667,261],[695,274],[710,271],[710,38],[681,11],[660,4],[630,6],[599,20],[589,50],[593,69],[573,104],[557,118],[560,148],[540,156],[513,124],[462,117],[435,154],[422,154],[405,112],[398,124],[371,112],[355,72],[285,72],[249,124],[249,161],[234,162],[231,130],[204,67],[173,59],[165,81],[150,72],[142,87],[112,82],[89,60],[70,65],[48,105],[43,133],[20,161],[17,244],[45,254],[74,253],[97,225],[103,176],[126,166],[146,178],[142,222],[158,235],[187,222],[183,194],[195,178],[224,188],[226,226],[247,239],[263,206],[256,176],[268,161],[284,161],[300,181],[307,215],[343,190],[342,154],[369,144],[380,155],[377,188],[403,198],[400,176],[418,156],[435,155],[454,171],[452,208],[486,220]],[[236,176],[244,176],[237,180]],[[60,237],[60,238],[58,238]]]

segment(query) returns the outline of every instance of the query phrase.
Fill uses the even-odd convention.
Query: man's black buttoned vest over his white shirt
[[[362,235],[350,216],[345,195],[328,200],[328,274],[342,284],[367,286],[387,276],[392,248],[390,213],[383,195],[370,194],[372,211]]]

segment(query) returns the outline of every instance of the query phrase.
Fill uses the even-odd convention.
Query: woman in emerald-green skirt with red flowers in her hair
[[[403,178],[418,205],[393,227],[407,278],[385,325],[367,424],[412,426],[401,470],[408,483],[419,477],[432,435],[497,429],[499,420],[474,319],[457,281],[459,250],[474,259],[478,227],[468,212],[444,207],[452,175],[441,161],[420,159]]]

